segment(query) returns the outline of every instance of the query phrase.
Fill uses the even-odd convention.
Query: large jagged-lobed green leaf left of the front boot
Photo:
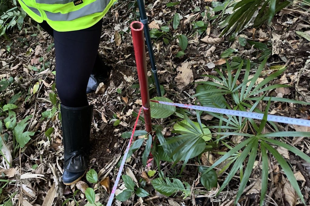
[[[30,136],[34,135],[34,132],[29,132],[29,131],[24,131],[26,126],[28,125],[28,120],[32,117],[32,115],[29,115],[28,117],[24,118],[21,120],[16,127],[13,130],[14,136],[18,144],[20,145],[21,148],[25,146],[31,139]]]

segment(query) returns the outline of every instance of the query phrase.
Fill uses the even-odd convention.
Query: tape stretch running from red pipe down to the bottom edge
[[[115,183],[114,183],[114,185],[113,185],[112,192],[111,192],[111,195],[110,195],[110,197],[109,197],[107,206],[111,206],[111,205],[112,205],[113,198],[114,198],[114,195],[115,195],[115,191],[116,191],[118,182],[119,182],[119,180],[120,180],[120,178],[121,178],[122,171],[123,171],[123,169],[124,169],[126,157],[127,157],[127,155],[128,155],[128,152],[129,152],[129,148],[130,148],[130,145],[131,145],[131,142],[132,142],[132,138],[133,138],[133,136],[134,136],[134,134],[135,134],[135,128],[137,127],[138,120],[139,120],[139,116],[140,116],[140,114],[141,114],[141,110],[142,110],[142,107],[140,108],[139,113],[138,113],[138,117],[137,117],[137,119],[136,119],[136,121],[135,121],[135,126],[134,126],[134,129],[132,130],[131,137],[130,137],[129,143],[128,143],[128,145],[127,145],[127,148],[126,148],[126,150],[125,150],[125,154],[124,154],[124,157],[123,157],[121,166],[120,166],[120,168],[119,168],[119,170],[118,170],[118,173],[117,173],[117,176],[116,176],[116,179],[115,179]]]

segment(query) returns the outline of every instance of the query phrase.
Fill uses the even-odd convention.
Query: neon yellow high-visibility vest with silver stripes
[[[108,12],[117,0],[18,0],[35,21],[43,20],[56,31],[89,28]]]

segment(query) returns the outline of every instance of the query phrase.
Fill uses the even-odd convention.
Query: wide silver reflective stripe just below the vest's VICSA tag
[[[47,19],[50,19],[52,21],[72,21],[86,15],[102,12],[107,7],[109,2],[110,0],[96,0],[95,2],[83,6],[77,11],[71,11],[66,14],[62,14],[60,12],[52,13],[49,11],[45,11],[45,13]]]

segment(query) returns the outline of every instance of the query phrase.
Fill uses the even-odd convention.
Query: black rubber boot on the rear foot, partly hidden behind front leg
[[[86,94],[95,92],[101,82],[107,83],[110,71],[111,68],[102,61],[98,53],[95,60],[94,68],[88,80]]]

